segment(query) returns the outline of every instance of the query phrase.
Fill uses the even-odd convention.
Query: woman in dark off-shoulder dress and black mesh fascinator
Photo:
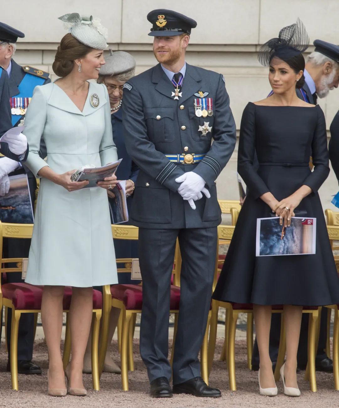
[[[317,193],[330,171],[323,111],[300,100],[308,35],[298,19],[279,38],[268,41],[259,61],[269,66],[273,95],[249,102],[240,126],[238,172],[248,187],[213,298],[252,303],[260,357],[259,391],[277,395],[268,352],[271,306],[284,305],[286,363],[280,374],[284,393],[299,396],[297,350],[302,306],[339,302],[339,278]],[[314,171],[308,166],[312,151]],[[259,169],[253,167],[257,154]],[[257,218],[277,215],[286,226],[291,217],[315,217],[314,255],[256,257]]]

